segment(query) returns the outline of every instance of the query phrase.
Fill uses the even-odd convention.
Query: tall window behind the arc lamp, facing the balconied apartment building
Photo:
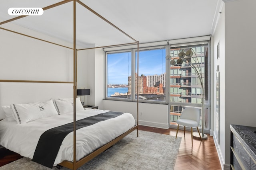
[[[182,64],[170,65],[170,125],[177,125],[176,120],[179,119],[184,108],[201,108],[202,85],[205,94],[205,107],[210,108],[210,102],[208,102],[210,97],[208,94],[208,77],[210,77],[208,65],[210,64],[205,63],[210,61],[208,59],[208,42],[177,47],[171,45],[170,56],[174,61],[177,61],[179,59],[178,53],[182,49],[187,51],[190,48],[193,51],[192,57],[183,59]],[[192,66],[191,63],[193,64]],[[198,76],[197,72],[200,76]],[[202,80],[202,85],[200,79]],[[209,127],[209,125],[207,124],[206,127]]]

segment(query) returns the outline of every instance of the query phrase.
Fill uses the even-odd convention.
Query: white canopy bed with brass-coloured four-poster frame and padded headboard
[[[106,21],[108,24],[112,25],[115,29],[117,29],[118,31],[120,31],[121,33],[126,35],[126,37],[131,39],[133,42],[133,43],[113,45],[113,47],[136,44],[137,51],[139,51],[139,41],[132,38],[130,35],[128,35],[124,31],[122,31],[118,27],[116,27],[110,21],[106,20],[103,16],[100,16],[100,14],[96,13],[94,10],[92,10],[91,8],[86,6],[86,4],[84,4],[80,0],[63,0],[61,2],[57,2],[55,4],[44,7],[43,8],[44,13],[46,14],[46,12],[50,11],[50,9],[61,6],[63,4],[67,4],[68,2],[70,2],[69,4],[71,4],[72,8],[73,8],[72,18],[73,18],[73,28],[74,28],[73,35],[74,36],[73,36],[73,41],[72,41],[73,42],[72,48],[66,47],[65,45],[62,45],[62,44],[57,44],[54,42],[46,41],[46,40],[40,39],[38,37],[33,37],[31,35],[26,35],[24,33],[18,33],[16,31],[5,29],[2,27],[0,27],[0,28],[3,30],[6,30],[6,31],[12,32],[12,33],[17,33],[17,34],[25,36],[25,37],[30,37],[30,38],[32,38],[32,41],[34,41],[34,39],[37,39],[40,41],[44,41],[44,43],[46,42],[46,43],[50,43],[53,45],[58,45],[56,47],[64,47],[65,49],[72,49],[72,51],[73,51],[73,77],[68,74],[68,76],[64,76],[65,79],[64,78],[61,79],[62,81],[60,82],[60,81],[56,81],[56,77],[52,77],[51,74],[50,75],[47,74],[46,76],[43,76],[42,79],[38,80],[38,75],[36,74],[36,72],[34,72],[35,70],[30,71],[30,72],[35,73],[35,74],[32,74],[32,76],[28,76],[28,75],[24,74],[26,80],[20,80],[20,77],[17,76],[16,74],[14,74],[13,76],[7,76],[8,78],[18,78],[18,80],[0,80],[0,106],[8,106],[13,103],[30,103],[30,102],[38,102],[38,101],[41,102],[41,101],[46,101],[49,99],[76,98],[77,97],[76,90],[77,90],[77,84],[79,84],[78,83],[79,81],[77,81],[78,51],[110,47],[110,46],[102,46],[102,47],[85,48],[85,49],[77,49],[76,48],[77,47],[76,46],[76,42],[77,42],[76,37],[77,36],[76,36],[75,28],[77,25],[76,20],[79,18],[79,17],[76,17],[76,13],[78,13],[76,11],[78,11],[80,9],[80,7],[84,7],[87,10],[89,10],[90,12],[92,12],[93,14],[95,14],[96,16],[100,17],[102,20]],[[76,6],[79,6],[79,7],[76,8]],[[0,25],[4,25],[6,23],[9,23],[11,21],[15,21],[15,20],[18,20],[18,19],[24,18],[24,17],[25,16],[17,16],[10,20],[1,22]],[[60,21],[62,21],[62,20],[60,20]],[[68,33],[68,37],[69,37],[69,33]],[[47,49],[44,49],[44,50],[47,50]],[[36,54],[31,54],[31,55],[33,56]],[[68,55],[68,53],[65,52],[65,55]],[[137,56],[137,59],[139,60],[138,56]],[[26,65],[24,65],[24,66],[26,66]],[[48,70],[47,65],[44,65],[44,68],[46,68],[46,70]],[[137,73],[138,73],[138,68],[139,68],[139,66],[137,64]],[[71,69],[72,68],[70,68],[70,66],[67,66],[68,73],[71,73]],[[14,73],[16,73],[17,71],[19,71],[19,70],[15,70]],[[66,74],[66,73],[64,73],[64,74]],[[22,75],[22,76],[24,76],[24,75]],[[138,76],[138,74],[137,74],[137,76]],[[6,76],[4,76],[4,78],[5,77]],[[45,79],[47,79],[47,81]],[[55,81],[52,81],[53,79]],[[72,82],[70,82],[70,79],[73,79]],[[69,82],[66,82],[67,80]],[[84,80],[81,80],[81,82],[84,82]],[[41,86],[42,84],[44,84],[44,85]],[[55,84],[57,84],[57,86],[55,86]],[[82,83],[82,84],[83,84],[83,86],[85,86],[85,84],[87,84],[87,83]],[[138,83],[137,83],[137,89],[138,89]],[[103,100],[103,98],[102,98],[102,100]],[[76,105],[76,102],[74,102],[74,105]],[[88,113],[88,111],[91,111],[91,113]],[[68,116],[68,114],[63,115],[63,117],[62,117],[62,115],[54,115],[52,117],[34,119],[33,121],[30,121],[30,122],[26,122],[26,120],[25,120],[25,122],[23,122],[20,120],[21,124],[17,123],[18,120],[16,120],[17,121],[16,123],[14,121],[12,123],[10,123],[10,122],[7,122],[6,119],[4,119],[0,122],[0,145],[3,145],[7,149],[18,152],[22,156],[32,158],[32,156],[34,154],[35,147],[36,147],[36,143],[37,143],[40,135],[45,130],[47,130],[47,128],[50,128],[50,127],[47,127],[47,125],[58,126],[58,123],[61,123],[62,120],[64,121],[63,123],[65,123],[65,122],[70,123],[70,122],[73,122],[73,118],[80,119],[83,116],[86,116],[86,114],[91,115],[97,111],[86,109],[86,111],[82,111],[82,112],[86,112],[86,113],[80,113],[80,111],[74,109],[73,112],[74,112],[74,117],[73,117],[72,113],[70,113],[69,121],[65,120],[65,117]],[[4,118],[4,115],[2,113],[3,113],[3,111],[0,108],[0,119]],[[60,165],[76,170],[77,168],[82,166],[84,163],[88,162],[90,159],[94,158],[95,156],[97,156],[98,154],[103,152],[104,150],[106,150],[109,147],[111,147],[112,145],[114,145],[116,142],[121,140],[123,137],[125,137],[132,131],[137,130],[137,137],[138,137],[138,99],[137,99],[137,116],[136,117],[137,117],[136,125],[135,125],[133,116],[129,113],[124,113],[123,115],[120,115],[116,118],[109,119],[109,120],[106,120],[106,121],[103,121],[100,123],[96,123],[95,125],[92,125],[91,127],[85,127],[85,128],[79,129],[77,131],[74,131],[74,133],[68,134],[68,136],[64,139],[64,141],[62,143],[60,152],[57,155],[58,158],[56,158],[56,161],[54,162],[54,164],[58,164],[58,162],[61,162],[62,160],[64,160],[62,163],[60,163]],[[51,122],[50,119],[53,119],[53,120],[51,120],[53,122],[53,124],[50,123]],[[116,121],[117,119],[122,119],[122,120],[119,122],[119,121]],[[128,119],[130,121],[128,121]],[[76,127],[75,122],[76,121],[74,121],[74,127]],[[126,124],[126,123],[128,123],[128,124]],[[32,124],[35,124],[38,127],[32,128],[30,126]],[[99,125],[99,128],[96,128],[95,127],[96,125]],[[120,125],[120,126],[118,126],[118,125]],[[14,127],[17,129],[14,129]],[[106,129],[106,127],[109,127],[112,130]],[[85,132],[82,132],[83,129],[85,130]],[[88,129],[90,129],[90,132]],[[84,134],[84,133],[86,133],[86,134]],[[27,137],[28,135],[31,135],[31,136]],[[91,135],[91,136],[87,139],[84,139],[84,142],[80,141],[80,136],[83,136],[83,138],[84,138],[85,135]],[[94,138],[94,139],[91,139],[91,138]],[[26,143],[26,145],[23,145],[24,143]],[[98,146],[101,146],[101,145],[102,145],[102,147],[100,147],[99,149],[96,149],[95,151],[88,154],[87,156],[84,156],[84,155],[86,155],[86,153],[82,153],[82,152],[80,153],[81,150],[89,153],[89,152],[91,152],[90,150],[93,150],[93,149],[88,149],[86,147],[86,145],[80,146],[81,145],[80,143],[90,143],[89,145],[92,148],[97,148]],[[67,147],[65,150],[64,145],[68,145],[69,147]],[[66,155],[66,153],[68,155]],[[72,155],[72,153],[74,153],[74,155]],[[63,156],[63,155],[67,156],[67,158],[61,158],[61,156]],[[73,158],[74,158],[74,160],[79,160],[79,161],[73,162]],[[68,160],[68,161],[66,161],[66,160]]]

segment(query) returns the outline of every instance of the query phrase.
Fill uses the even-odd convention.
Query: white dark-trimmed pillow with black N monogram
[[[17,123],[20,124],[44,117],[58,115],[52,99],[48,100],[47,102],[13,104],[12,110],[14,112]]]

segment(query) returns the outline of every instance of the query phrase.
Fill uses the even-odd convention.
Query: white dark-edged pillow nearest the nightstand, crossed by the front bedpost
[[[74,111],[73,98],[54,100],[59,114],[70,113]],[[76,98],[76,111],[84,110],[80,98]]]

